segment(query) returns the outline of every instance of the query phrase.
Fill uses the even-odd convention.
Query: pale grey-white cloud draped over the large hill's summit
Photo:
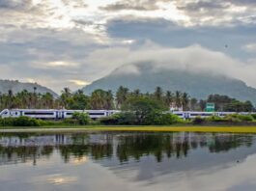
[[[99,57],[100,55],[100,57]],[[256,87],[256,63],[251,64],[233,59],[222,52],[213,51],[198,44],[185,48],[163,47],[148,41],[140,48],[111,48],[98,50],[89,55],[96,66],[101,66],[105,60],[111,65],[109,68],[118,68],[126,65],[121,71],[138,73],[136,64],[146,63],[154,70],[183,69],[191,72],[204,72],[213,75],[225,75],[231,78],[242,79],[248,85]],[[101,72],[102,72],[101,71]],[[103,73],[103,72],[102,72]],[[122,72],[121,72],[122,73]]]

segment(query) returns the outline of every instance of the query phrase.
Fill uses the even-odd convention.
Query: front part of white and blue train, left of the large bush
[[[73,113],[88,113],[91,119],[100,119],[118,113],[117,110],[56,110],[56,109],[5,109],[1,118],[18,118],[26,116],[42,120],[61,120],[71,118]]]

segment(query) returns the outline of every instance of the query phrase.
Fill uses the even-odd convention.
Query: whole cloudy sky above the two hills
[[[255,0],[0,0],[0,78],[59,92],[138,62],[256,88]]]

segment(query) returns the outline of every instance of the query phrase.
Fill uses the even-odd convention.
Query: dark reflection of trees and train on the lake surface
[[[121,164],[140,161],[143,156],[183,158],[191,150],[207,148],[210,152],[226,152],[251,147],[254,141],[247,134],[202,133],[84,133],[84,134],[1,134],[0,164],[49,158],[58,150],[65,163],[84,163],[115,157]],[[74,156],[74,157],[73,157]],[[72,158],[72,160],[71,160]]]

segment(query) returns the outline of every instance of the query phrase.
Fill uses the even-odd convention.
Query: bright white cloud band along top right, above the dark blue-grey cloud
[[[113,14],[165,18],[182,26],[237,26],[255,23],[256,4],[242,0],[120,0],[100,10]],[[141,13],[141,14],[139,14]]]

